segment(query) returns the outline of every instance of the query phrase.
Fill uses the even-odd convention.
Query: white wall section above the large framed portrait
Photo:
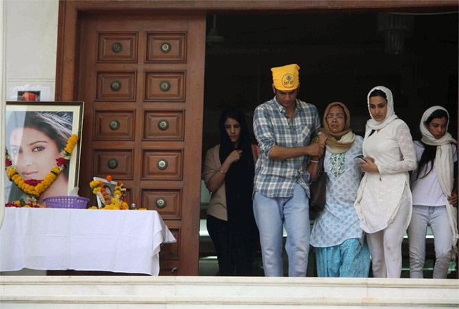
[[[40,90],[40,101],[54,100],[58,45],[58,0],[7,0],[6,90]]]

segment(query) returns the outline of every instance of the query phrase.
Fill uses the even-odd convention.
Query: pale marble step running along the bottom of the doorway
[[[1,276],[0,308],[459,308],[459,280]]]

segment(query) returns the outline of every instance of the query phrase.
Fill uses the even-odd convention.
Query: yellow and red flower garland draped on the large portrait
[[[18,188],[23,190],[28,196],[19,199],[18,201],[13,201],[10,203],[5,203],[6,207],[40,207],[38,204],[38,198],[40,195],[45,192],[55,179],[64,171],[66,168],[71,155],[73,148],[77,145],[78,136],[73,134],[67,140],[67,144],[60,152],[60,155],[55,159],[56,164],[51,167],[51,171],[47,173],[45,179],[43,180],[24,180],[21,175],[16,171],[16,167],[12,164],[12,160],[8,150],[5,149],[5,168],[6,175],[11,182],[14,182]]]

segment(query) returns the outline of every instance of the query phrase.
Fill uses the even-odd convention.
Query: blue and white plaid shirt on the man
[[[297,99],[293,119],[288,118],[285,108],[275,97],[260,104],[253,114],[253,132],[260,149],[253,190],[266,197],[292,197],[298,183],[309,196],[308,156],[271,160],[268,155],[274,145],[308,146],[320,126],[319,112],[310,103]]]

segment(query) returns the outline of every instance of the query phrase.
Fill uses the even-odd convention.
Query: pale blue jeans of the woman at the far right
[[[422,278],[425,261],[425,234],[432,227],[435,245],[434,278],[446,278],[451,258],[451,227],[446,206],[413,206],[408,227],[410,240],[410,277]]]

